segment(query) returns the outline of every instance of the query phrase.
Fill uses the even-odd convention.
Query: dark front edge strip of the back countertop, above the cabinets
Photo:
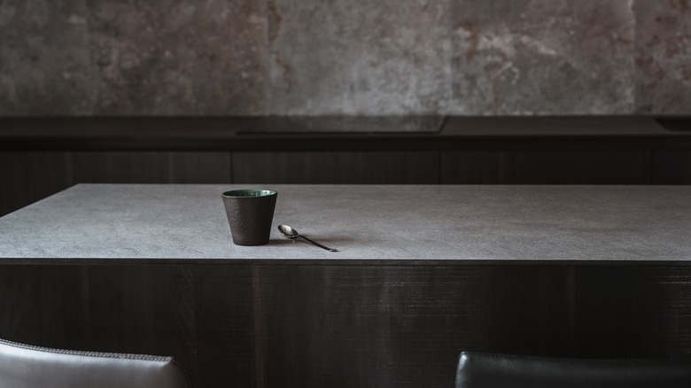
[[[691,150],[691,136],[248,135],[234,139],[13,137],[4,151],[648,151]]]

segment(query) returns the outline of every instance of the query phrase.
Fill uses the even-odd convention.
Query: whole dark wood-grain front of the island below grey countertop
[[[0,338],[174,355],[195,386],[453,386],[462,350],[691,352],[691,267],[0,266]]]

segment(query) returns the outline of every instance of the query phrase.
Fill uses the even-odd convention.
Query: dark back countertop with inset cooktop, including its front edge
[[[657,151],[691,149],[688,118],[0,118],[3,151]]]

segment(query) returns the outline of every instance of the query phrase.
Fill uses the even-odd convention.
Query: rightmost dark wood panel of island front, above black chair
[[[577,268],[578,357],[649,357],[691,349],[691,268]]]

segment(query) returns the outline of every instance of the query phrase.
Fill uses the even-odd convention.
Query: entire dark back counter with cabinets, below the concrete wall
[[[687,118],[428,119],[3,118],[0,215],[89,182],[691,184]]]

